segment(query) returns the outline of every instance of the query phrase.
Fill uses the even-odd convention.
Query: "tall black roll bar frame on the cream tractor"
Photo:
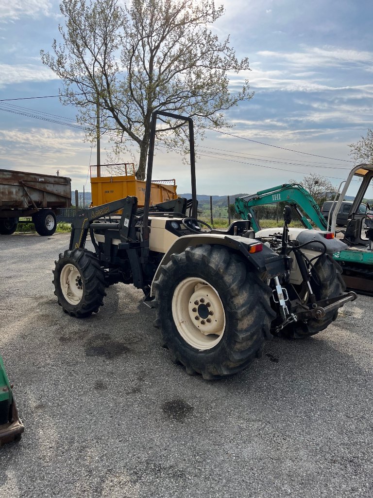
[[[190,152],[190,178],[191,178],[191,198],[192,210],[191,217],[197,217],[197,194],[195,186],[195,155],[194,155],[194,128],[193,120],[187,116],[180,116],[179,114],[172,114],[165,111],[154,111],[152,114],[152,121],[150,123],[150,138],[149,138],[149,153],[148,153],[148,168],[146,173],[146,188],[145,188],[145,206],[143,215],[143,240],[149,239],[149,206],[150,206],[150,192],[153,172],[153,159],[154,159],[154,144],[157,129],[157,117],[166,116],[175,120],[182,120],[189,124],[189,152]]]

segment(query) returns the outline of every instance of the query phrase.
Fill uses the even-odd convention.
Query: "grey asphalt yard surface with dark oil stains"
[[[171,362],[132,286],[63,313],[69,235],[0,237],[0,353],[25,425],[0,448],[1,498],[373,497],[373,298],[208,382]]]

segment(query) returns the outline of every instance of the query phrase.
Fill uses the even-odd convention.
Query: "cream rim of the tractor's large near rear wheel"
[[[223,303],[217,290],[201,278],[188,277],[178,284],[172,298],[172,315],[179,334],[195,349],[211,349],[223,337]]]

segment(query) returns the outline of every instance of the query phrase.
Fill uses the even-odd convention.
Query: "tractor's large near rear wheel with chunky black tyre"
[[[172,360],[212,380],[240,372],[271,339],[271,289],[236,253],[203,245],[173,254],[153,283]]]

